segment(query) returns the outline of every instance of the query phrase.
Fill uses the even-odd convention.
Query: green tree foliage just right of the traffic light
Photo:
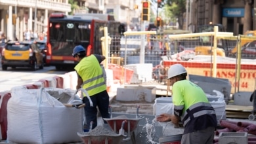
[[[186,12],[186,0],[166,0],[166,5],[169,5],[171,14],[178,18],[179,29],[182,29],[184,24],[184,13]]]

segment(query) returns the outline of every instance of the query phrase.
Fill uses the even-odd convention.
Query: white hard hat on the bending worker
[[[182,73],[186,73],[186,69],[181,64],[177,63],[174,65],[171,65],[171,67],[168,69],[168,78],[167,79],[170,79],[177,75],[181,75]]]

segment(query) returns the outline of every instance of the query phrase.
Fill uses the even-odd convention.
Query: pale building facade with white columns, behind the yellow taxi
[[[0,29],[7,39],[24,39],[24,31],[47,31],[49,14],[71,11],[68,0],[1,0]],[[35,16],[36,15],[36,16]]]

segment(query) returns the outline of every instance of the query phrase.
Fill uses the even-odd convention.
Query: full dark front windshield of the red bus
[[[91,24],[89,22],[51,21],[49,43],[53,56],[72,56],[76,45],[89,45]]]

